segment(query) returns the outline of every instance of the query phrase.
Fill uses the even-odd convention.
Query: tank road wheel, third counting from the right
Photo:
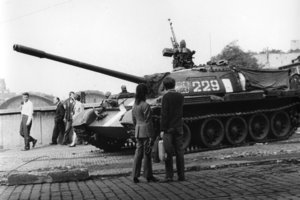
[[[242,117],[231,117],[225,126],[225,136],[230,144],[237,145],[242,143],[248,133],[247,122]]]

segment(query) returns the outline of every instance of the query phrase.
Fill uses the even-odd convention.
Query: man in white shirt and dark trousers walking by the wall
[[[23,151],[28,151],[30,149],[30,142],[32,142],[32,148],[35,147],[37,140],[30,136],[30,129],[32,125],[32,115],[33,115],[33,104],[29,100],[29,94],[27,92],[22,94],[23,104],[21,111],[21,125],[20,134],[24,137],[25,148]]]

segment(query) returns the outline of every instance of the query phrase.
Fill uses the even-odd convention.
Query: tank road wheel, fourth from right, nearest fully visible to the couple
[[[224,126],[221,120],[216,118],[204,120],[201,126],[200,138],[206,147],[217,147],[224,138]]]

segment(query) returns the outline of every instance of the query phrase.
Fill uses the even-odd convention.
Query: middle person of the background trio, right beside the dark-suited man
[[[73,117],[73,112],[74,112],[74,100],[75,93],[73,91],[69,92],[69,98],[64,102],[64,108],[65,108],[65,118],[64,122],[66,124],[66,129],[65,129],[65,134],[64,134],[64,139],[63,139],[63,144],[69,144],[71,143],[72,139],[72,117]]]

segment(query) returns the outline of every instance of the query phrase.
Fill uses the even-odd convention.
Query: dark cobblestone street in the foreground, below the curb
[[[163,178],[163,174],[157,174]],[[131,177],[0,186],[0,199],[300,199],[299,163],[192,171],[187,181],[134,184]]]

